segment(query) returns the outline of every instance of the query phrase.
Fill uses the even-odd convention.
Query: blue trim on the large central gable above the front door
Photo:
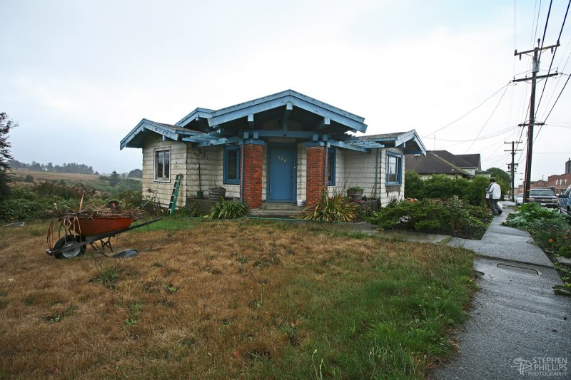
[[[330,120],[345,125],[354,132],[364,133],[367,130],[367,125],[363,123],[365,118],[330,106],[327,103],[323,103],[322,101],[310,98],[293,90],[282,91],[281,93],[264,96],[263,98],[254,99],[253,101],[213,111],[211,118],[208,119],[208,125],[210,125],[211,128],[217,128],[218,125],[223,123],[248,117],[248,115],[252,113],[259,113],[286,106],[287,103],[292,103],[294,107],[302,108],[305,111],[321,115],[324,118],[330,118]]]

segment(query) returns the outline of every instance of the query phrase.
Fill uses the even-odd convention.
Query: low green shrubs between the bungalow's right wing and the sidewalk
[[[443,202],[391,202],[368,218],[368,222],[385,229],[440,232],[470,238],[480,238],[488,221],[489,216],[482,207],[469,205],[455,195]]]

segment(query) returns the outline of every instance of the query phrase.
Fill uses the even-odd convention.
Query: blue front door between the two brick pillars
[[[295,202],[297,172],[295,148],[269,147],[268,200]]]

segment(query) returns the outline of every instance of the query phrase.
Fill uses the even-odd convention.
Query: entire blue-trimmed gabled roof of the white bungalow
[[[286,90],[219,110],[196,108],[175,125],[143,119],[121,140],[120,147],[141,148],[149,133],[158,133],[163,139],[185,141],[196,147],[285,137],[361,152],[398,147],[408,154],[425,154],[415,130],[361,137],[348,134],[364,133],[364,121],[341,108]]]

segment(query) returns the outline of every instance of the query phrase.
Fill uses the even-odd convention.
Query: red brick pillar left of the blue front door
[[[262,205],[263,145],[243,145],[244,159],[244,202],[250,208]]]

